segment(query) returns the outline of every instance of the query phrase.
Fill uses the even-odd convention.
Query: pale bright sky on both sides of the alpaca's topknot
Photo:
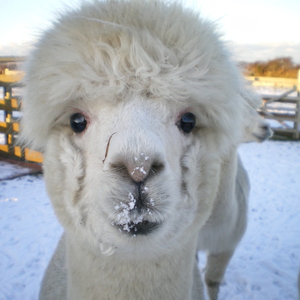
[[[24,55],[64,5],[81,0],[0,0],[0,55]],[[300,0],[183,0],[217,20],[236,59],[291,56],[300,63]]]

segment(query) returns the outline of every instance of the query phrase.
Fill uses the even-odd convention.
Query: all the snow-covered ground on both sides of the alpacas
[[[239,152],[252,186],[249,221],[219,298],[295,300],[300,267],[300,142],[248,143]],[[6,170],[0,166],[1,173]],[[0,300],[37,299],[61,232],[42,175],[0,181]],[[203,266],[204,256],[200,257]]]

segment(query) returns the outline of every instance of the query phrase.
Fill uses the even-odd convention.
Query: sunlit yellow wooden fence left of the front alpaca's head
[[[16,146],[16,135],[19,131],[20,95],[16,95],[15,91],[21,88],[17,84],[21,77],[21,72],[7,68],[0,73],[0,88],[3,89],[3,98],[0,97],[0,156],[42,162],[41,153]]]

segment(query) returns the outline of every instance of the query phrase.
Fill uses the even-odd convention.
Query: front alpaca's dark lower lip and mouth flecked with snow
[[[141,222],[130,221],[125,224],[118,224],[119,231],[125,231],[129,234],[135,235],[147,235],[152,233],[159,227],[158,222],[152,222],[149,220],[143,220]]]

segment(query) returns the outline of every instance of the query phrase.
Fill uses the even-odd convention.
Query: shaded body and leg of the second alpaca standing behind
[[[214,207],[198,235],[198,249],[207,255],[205,283],[209,299],[217,299],[227,264],[246,229],[249,188],[240,159],[232,155],[223,163]]]

